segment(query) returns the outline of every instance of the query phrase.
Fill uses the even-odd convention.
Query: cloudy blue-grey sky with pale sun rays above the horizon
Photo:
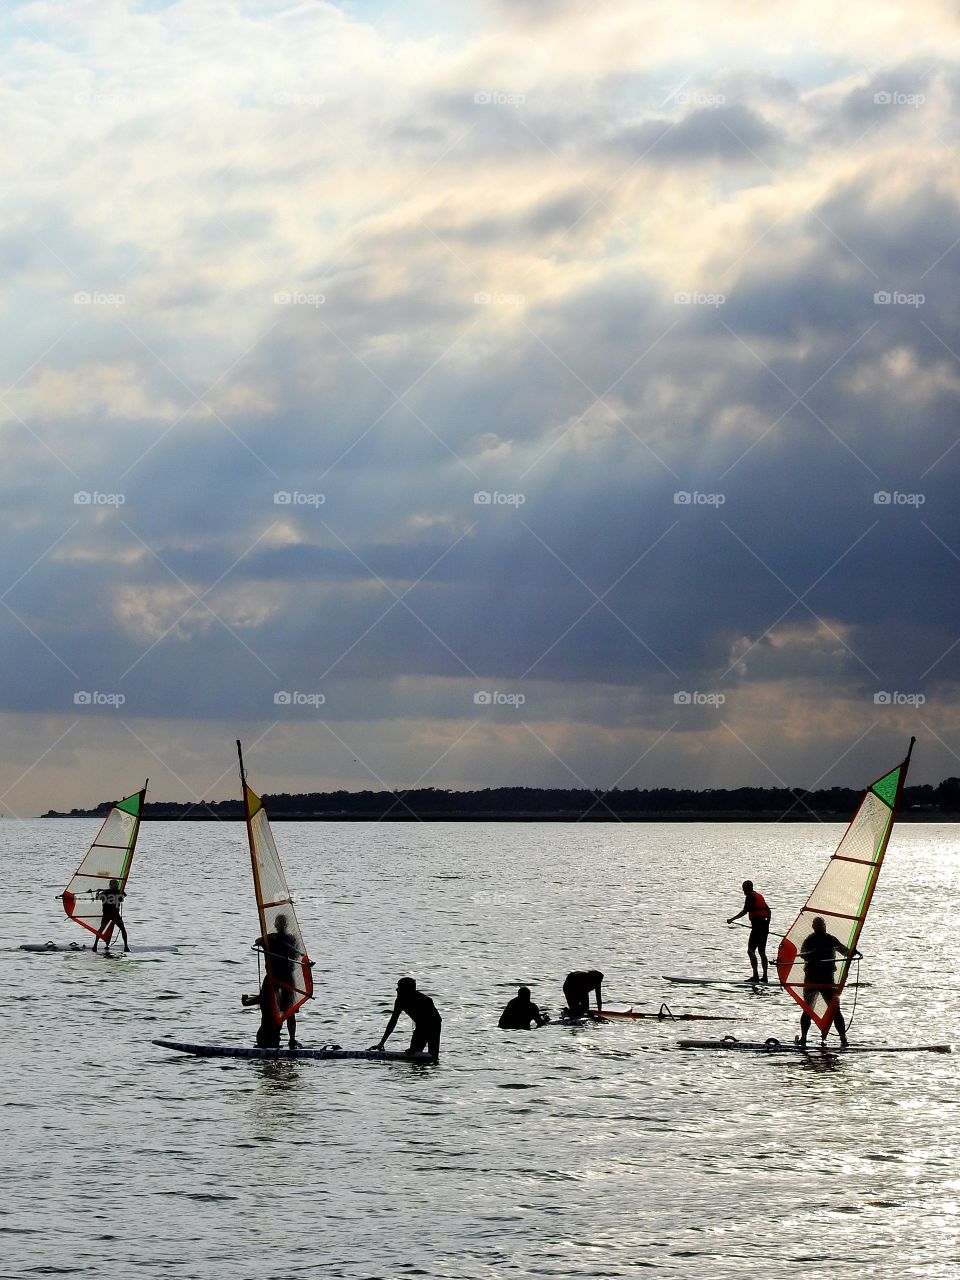
[[[956,17],[0,9],[0,813],[960,774]]]

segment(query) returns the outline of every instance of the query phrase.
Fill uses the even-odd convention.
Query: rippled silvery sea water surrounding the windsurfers
[[[960,1275],[960,1057],[675,1047],[691,1028],[792,1037],[780,992],[660,975],[745,977],[723,923],[741,879],[783,928],[841,827],[278,824],[316,960],[301,1039],[371,1044],[411,973],[444,1015],[436,1069],[151,1044],[252,1043],[238,824],[142,829],[131,941],[178,955],[13,950],[79,932],[54,895],[95,831],[3,824],[4,1277]],[[901,824],[851,1039],[956,1038],[959,910],[960,828]],[[518,983],[556,1012],[564,974],[594,966],[611,1006],[731,1021],[497,1030]]]

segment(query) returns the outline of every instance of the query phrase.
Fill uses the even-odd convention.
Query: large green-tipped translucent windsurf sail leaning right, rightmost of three
[[[856,948],[900,808],[915,741],[916,739],[910,739],[906,758],[896,768],[867,788],[836,852],[780,943],[780,984],[810,1015],[824,1036],[831,1028],[840,993],[850,973],[850,955],[838,955],[832,968],[829,963],[826,968],[820,965],[818,980],[806,972],[801,956],[804,942],[813,932],[814,918],[820,915],[827,932],[842,942],[847,952]]]

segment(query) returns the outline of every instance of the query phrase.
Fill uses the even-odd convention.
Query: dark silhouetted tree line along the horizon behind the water
[[[276,792],[262,801],[271,818],[584,818],[614,820],[657,814],[765,814],[771,817],[851,815],[861,790],[823,787],[815,791],[794,787],[707,787],[701,791],[676,787],[589,790],[561,787],[485,787],[481,791],[445,791],[421,787],[411,791],[310,791],[300,795]],[[105,815],[115,801],[104,800],[93,809],[52,809],[45,818],[90,818]],[[945,778],[905,787],[901,812],[960,814],[960,778]],[[243,817],[242,800],[198,803],[148,801],[145,819]]]

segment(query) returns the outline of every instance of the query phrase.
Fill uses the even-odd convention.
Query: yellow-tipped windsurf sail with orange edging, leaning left
[[[250,860],[253,868],[253,891],[260,914],[260,942],[270,980],[268,1010],[274,1023],[280,1027],[314,995],[314,979],[310,972],[312,961],[303,943],[264,801],[247,786],[239,742],[237,754],[243,785]]]

